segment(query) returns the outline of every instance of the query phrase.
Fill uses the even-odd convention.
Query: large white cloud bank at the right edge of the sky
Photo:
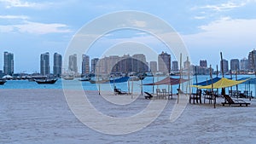
[[[195,45],[227,45],[255,43],[256,20],[231,19],[224,17],[220,20],[199,26],[201,32],[184,35],[189,43]],[[199,43],[200,42],[200,43]]]

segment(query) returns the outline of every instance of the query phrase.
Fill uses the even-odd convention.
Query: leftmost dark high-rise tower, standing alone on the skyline
[[[3,53],[3,73],[5,75],[14,74],[14,54],[9,52]]]

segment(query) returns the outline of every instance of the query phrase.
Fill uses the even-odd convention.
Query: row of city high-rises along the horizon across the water
[[[1,72],[4,74],[9,73],[9,75],[17,74],[19,72],[14,72],[15,67],[15,56],[13,53],[4,52],[4,63],[3,63],[3,70],[0,69]],[[78,61],[78,57],[81,56],[82,60]],[[62,55],[58,53],[53,54],[53,63],[51,65],[50,63],[50,54],[49,52],[45,52],[44,54],[40,55],[40,74],[41,75],[49,75],[54,74],[55,76],[61,76],[64,72],[74,72],[77,74],[86,75],[89,73],[96,72],[97,66],[101,66],[100,69],[97,69],[98,72],[102,73],[111,73],[111,72],[139,72],[143,69],[143,72],[164,72],[167,73],[167,70],[170,68],[172,72],[177,72],[179,70],[179,63],[177,60],[172,60],[172,55],[169,55],[168,53],[162,51],[158,55],[157,60],[149,61],[147,60],[147,56],[143,54],[135,54],[135,55],[109,55],[105,56],[103,58],[92,58],[90,59],[90,55],[68,55],[68,67],[63,67],[62,63]],[[131,60],[130,60],[131,59]],[[137,60],[139,63],[142,64],[135,64],[134,61]],[[223,59],[224,62],[221,60],[219,61],[219,69],[218,72],[220,72],[222,63],[224,64],[224,73],[230,73],[230,72],[253,72],[256,61],[256,50],[252,50],[248,52],[247,58],[243,58],[241,60],[239,59],[231,59],[226,60]],[[81,63],[81,67],[78,66],[78,64]],[[119,65],[118,67],[116,67]],[[145,65],[145,67],[144,67]],[[165,66],[163,66],[165,65]],[[211,64],[210,64],[211,65]],[[126,66],[126,68],[125,68]],[[189,61],[189,57],[187,57],[187,60],[184,60],[182,62],[183,70],[189,70],[190,66],[192,66],[193,72],[195,72],[195,67],[199,68],[200,72],[198,74],[207,74],[209,72],[209,68],[207,66],[207,60],[200,60],[199,65],[192,64]],[[50,68],[52,67],[52,69]],[[130,67],[130,68],[129,68]],[[144,68],[143,68],[144,67]],[[128,70],[128,69],[129,70]],[[116,69],[116,70],[115,70]],[[214,66],[212,66],[212,69],[214,70]],[[21,72],[24,73],[25,71]],[[26,72],[26,73],[35,73],[34,72]]]

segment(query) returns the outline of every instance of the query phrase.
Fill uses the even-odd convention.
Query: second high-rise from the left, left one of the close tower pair
[[[41,54],[40,73],[44,76],[49,75],[49,52]]]

